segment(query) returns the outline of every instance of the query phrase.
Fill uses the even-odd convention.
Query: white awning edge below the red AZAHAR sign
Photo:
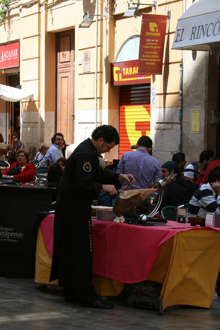
[[[18,102],[20,100],[34,101],[34,94],[26,90],[0,84],[0,98],[5,101]]]

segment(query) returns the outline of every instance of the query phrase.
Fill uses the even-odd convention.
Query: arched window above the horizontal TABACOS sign
[[[140,35],[135,35],[127,39],[116,56],[116,62],[138,60]]]

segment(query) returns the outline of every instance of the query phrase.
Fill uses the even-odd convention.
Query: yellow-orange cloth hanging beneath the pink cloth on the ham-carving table
[[[135,247],[134,247],[135,248]],[[35,281],[49,283],[52,258],[38,228]],[[173,305],[209,308],[220,264],[220,231],[187,230],[167,240],[151,269],[148,280],[160,282],[163,309]],[[50,284],[58,284],[53,281]],[[101,296],[117,296],[125,283],[94,275],[93,285]]]

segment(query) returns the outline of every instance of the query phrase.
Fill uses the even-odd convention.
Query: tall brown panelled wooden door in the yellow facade
[[[74,30],[57,33],[57,132],[74,143]]]

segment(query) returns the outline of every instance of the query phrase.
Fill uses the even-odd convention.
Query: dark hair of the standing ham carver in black
[[[101,125],[96,127],[92,132],[92,138],[94,140],[102,138],[105,143],[115,142],[116,145],[119,144],[119,134],[116,128],[111,125]]]

